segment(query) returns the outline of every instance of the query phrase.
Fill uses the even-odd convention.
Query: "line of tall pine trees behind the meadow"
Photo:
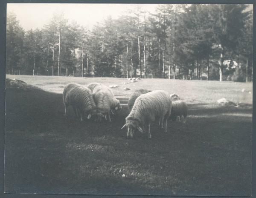
[[[7,13],[6,73],[252,80],[253,13],[242,4],[140,5],[91,31],[63,13],[24,31]]]

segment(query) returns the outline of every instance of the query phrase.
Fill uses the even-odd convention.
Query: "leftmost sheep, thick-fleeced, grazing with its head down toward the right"
[[[80,115],[80,120],[83,121],[82,115],[88,113],[88,119],[91,115],[96,114],[96,104],[93,100],[93,95],[90,89],[82,87],[77,83],[69,83],[63,91],[63,103],[65,105],[65,116],[67,117],[67,107],[73,106],[76,116]]]

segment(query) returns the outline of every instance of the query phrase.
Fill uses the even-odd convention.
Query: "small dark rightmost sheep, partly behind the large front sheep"
[[[172,102],[172,111],[169,117],[170,120],[176,121],[177,117],[179,117],[179,121],[185,123],[187,114],[188,106],[186,102],[182,100],[176,100]]]

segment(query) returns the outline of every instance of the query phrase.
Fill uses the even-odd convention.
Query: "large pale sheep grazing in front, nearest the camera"
[[[164,131],[167,132],[167,120],[171,114],[172,100],[166,91],[156,90],[140,95],[134,103],[130,114],[125,118],[125,126],[128,127],[128,137],[133,137],[134,131],[137,129],[143,132],[142,127],[148,129],[148,137],[151,138],[150,124],[154,122],[156,117],[162,118],[165,123]]]

